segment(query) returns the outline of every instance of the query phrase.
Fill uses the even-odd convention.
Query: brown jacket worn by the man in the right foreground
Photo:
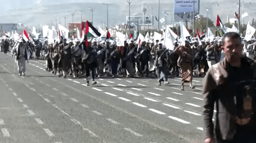
[[[242,61],[242,60],[241,60]],[[254,63],[248,57],[243,57],[246,65]],[[247,64],[248,63],[248,64]],[[204,77],[204,130],[205,137],[214,137],[223,140],[232,140],[236,133],[236,105],[232,89],[228,81],[229,64],[224,58],[219,63],[211,66]],[[254,74],[255,74],[254,70]],[[255,77],[255,76],[254,76]],[[217,115],[213,124],[213,111],[216,102]]]

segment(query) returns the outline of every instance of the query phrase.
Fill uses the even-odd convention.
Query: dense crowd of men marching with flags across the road
[[[110,42],[111,41],[111,42]],[[137,40],[139,41],[139,40]],[[169,50],[161,41],[141,39],[140,42],[130,39],[124,41],[124,46],[117,46],[113,40],[89,39],[79,41],[77,39],[62,39],[48,42],[47,39],[35,40],[30,38],[25,42],[20,38],[14,41],[11,37],[2,38],[1,51],[10,51],[15,55],[19,75],[25,75],[26,60],[45,57],[46,70],[58,74],[64,78],[67,75],[81,77],[85,74],[87,86],[92,79],[92,85],[96,84],[95,77],[115,77],[117,75],[134,77],[158,77],[158,85],[163,82],[169,84],[168,76],[181,77],[181,90],[184,90],[184,82],[192,85],[193,70],[199,76],[206,74],[211,65],[223,59],[221,38],[199,39],[189,38],[180,42],[174,41],[174,51]],[[10,50],[9,50],[10,47]],[[3,50],[2,50],[3,49]],[[245,42],[245,54],[255,58],[255,42]]]

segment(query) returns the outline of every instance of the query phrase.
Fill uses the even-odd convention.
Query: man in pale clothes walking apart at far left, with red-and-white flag
[[[29,36],[27,31],[23,30],[23,40],[19,40],[19,46],[16,54],[17,68],[19,72],[19,76],[25,75],[26,72],[26,60],[27,59],[27,48],[25,47],[25,43],[29,40]]]

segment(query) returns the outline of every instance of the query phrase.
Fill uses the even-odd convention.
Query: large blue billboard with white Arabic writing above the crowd
[[[174,0],[174,21],[193,20],[193,1],[195,3],[195,16],[199,14],[199,0]]]

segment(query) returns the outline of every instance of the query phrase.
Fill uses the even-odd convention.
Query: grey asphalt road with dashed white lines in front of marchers
[[[58,77],[31,60],[26,76],[0,53],[2,143],[200,143],[202,78],[180,91],[180,79]]]

